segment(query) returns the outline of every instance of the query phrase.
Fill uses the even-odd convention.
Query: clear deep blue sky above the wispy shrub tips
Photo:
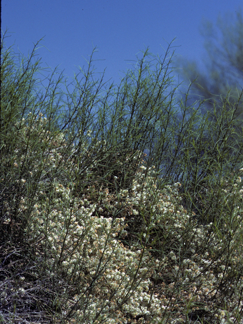
[[[95,63],[97,71],[106,68],[105,79],[117,83],[120,71],[130,67],[126,60],[146,47],[161,55],[175,37],[176,53],[200,62],[202,19],[216,23],[219,14],[240,7],[242,0],[2,0],[1,28],[12,34],[7,44],[15,42],[25,55],[45,36],[41,44],[49,51],[38,50],[43,66],[59,65],[68,77],[97,46],[94,58],[103,60]]]

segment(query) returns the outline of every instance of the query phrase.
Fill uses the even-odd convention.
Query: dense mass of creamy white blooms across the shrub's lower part
[[[57,166],[61,158],[53,150],[47,156],[47,170]],[[78,163],[73,167],[70,158],[73,175],[79,168]],[[138,169],[131,188],[117,194],[100,184],[99,188],[90,185],[75,196],[74,181],[75,177],[69,185],[54,181],[52,187],[48,181],[39,182],[28,227],[33,244],[48,245],[50,265],[58,260],[69,282],[75,285],[77,277],[83,282],[69,301],[76,309],[73,322],[129,323],[129,314],[133,320],[149,316],[158,323],[170,314],[169,322],[177,324],[185,321],[189,302],[194,303],[194,310],[198,303],[214,308],[211,300],[220,295],[220,280],[230,277],[234,267],[242,264],[242,211],[235,207],[237,229],[236,225],[231,232],[228,228],[222,237],[214,224],[198,225],[183,209],[179,183],[158,190],[154,168],[147,170],[145,164]],[[241,187],[238,179],[235,192],[229,196],[242,197]],[[51,194],[43,199],[48,190]],[[27,198],[21,200],[23,212],[27,203]],[[128,230],[131,222],[137,224],[136,233]],[[230,244],[227,233],[231,233]],[[153,255],[155,246],[159,257]],[[226,248],[230,256],[224,254]],[[228,287],[228,308],[216,312],[221,323],[233,316],[237,289],[243,287],[243,277],[240,280],[237,287]],[[238,308],[243,307],[242,299],[239,304]]]

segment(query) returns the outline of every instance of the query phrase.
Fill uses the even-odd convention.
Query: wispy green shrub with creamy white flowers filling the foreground
[[[41,92],[36,46],[2,41],[1,321],[240,323],[238,106],[178,99],[170,46]]]

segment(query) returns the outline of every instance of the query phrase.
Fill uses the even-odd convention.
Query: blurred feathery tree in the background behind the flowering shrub
[[[207,58],[205,72],[195,61],[178,61],[182,75],[193,83],[195,94],[207,99],[206,107],[213,110],[214,104],[221,102],[230,91],[230,102],[236,103],[243,86],[243,17],[241,10],[225,17],[219,16],[216,28],[212,22],[204,21],[200,28],[205,38]],[[240,116],[243,105],[240,101]],[[220,106],[220,105],[219,105]],[[219,107],[218,107],[219,109]]]

